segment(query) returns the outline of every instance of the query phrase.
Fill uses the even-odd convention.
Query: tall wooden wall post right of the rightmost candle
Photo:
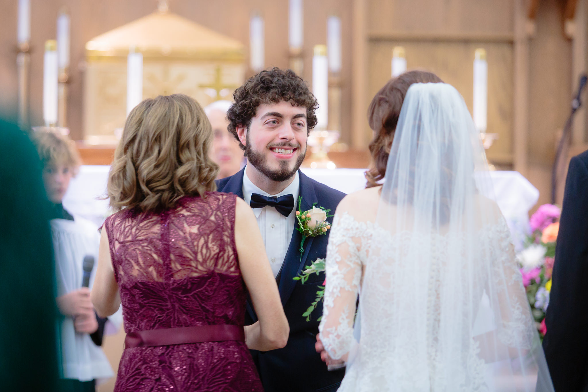
[[[533,4],[533,2],[532,2]],[[529,19],[531,9],[524,0],[515,0],[515,43],[514,43],[514,169],[527,175],[527,135],[529,132],[529,33],[534,22]],[[534,12],[533,12],[534,14]],[[534,16],[534,15],[532,15]]]

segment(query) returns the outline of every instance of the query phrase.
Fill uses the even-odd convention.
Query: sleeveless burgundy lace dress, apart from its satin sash
[[[122,210],[106,219],[126,333],[243,325],[235,202],[235,195],[209,192],[160,215]],[[245,342],[227,340],[127,348],[115,391],[263,389]]]

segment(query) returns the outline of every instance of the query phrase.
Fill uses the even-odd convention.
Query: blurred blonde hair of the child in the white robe
[[[75,176],[82,160],[74,140],[51,128],[41,128],[31,134],[43,166],[64,165]]]

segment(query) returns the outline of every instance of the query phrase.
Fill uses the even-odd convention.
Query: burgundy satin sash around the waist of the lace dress
[[[202,343],[203,341],[245,341],[243,326],[213,325],[152,329],[126,334],[125,348]]]

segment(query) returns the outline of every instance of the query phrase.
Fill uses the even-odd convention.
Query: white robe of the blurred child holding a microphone
[[[82,286],[84,256],[92,255],[95,260],[90,287],[96,272],[100,243],[98,228],[89,220],[78,216],[74,219],[51,220],[58,297]],[[119,325],[120,319],[120,315],[112,320],[109,317],[109,321]],[[93,343],[89,334],[76,333],[72,316],[65,316],[61,324],[61,350],[64,378],[91,381],[114,376],[101,347]]]

